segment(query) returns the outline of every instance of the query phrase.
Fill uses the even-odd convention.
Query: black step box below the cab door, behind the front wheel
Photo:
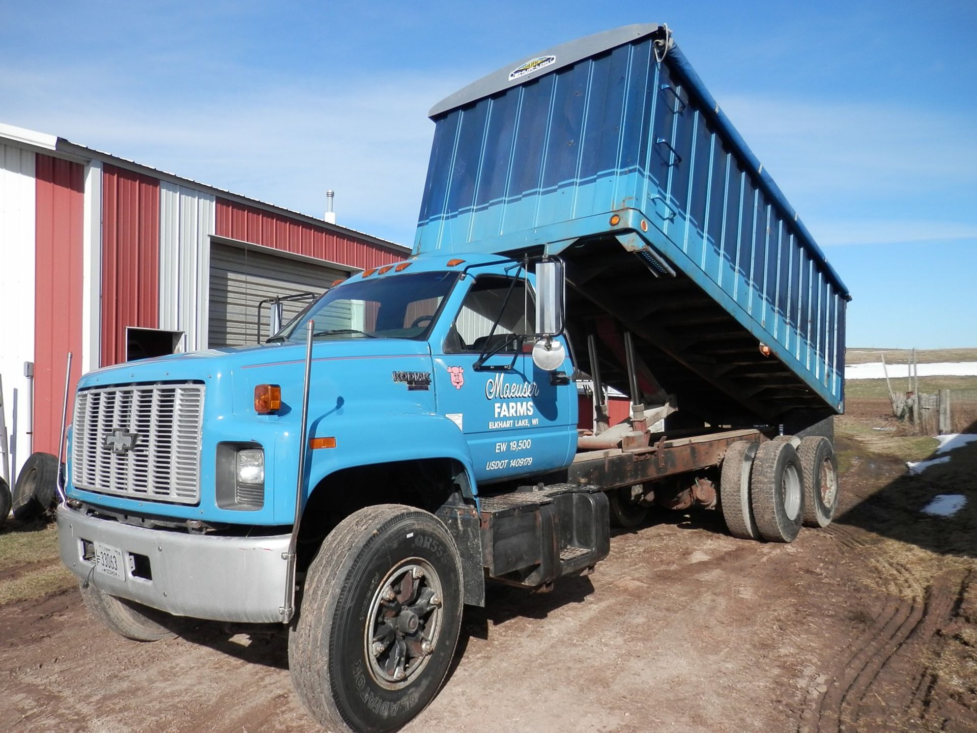
[[[596,486],[550,484],[479,497],[488,578],[539,587],[587,571],[611,549],[608,498]]]

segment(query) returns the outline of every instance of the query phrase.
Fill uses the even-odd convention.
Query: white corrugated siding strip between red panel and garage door
[[[214,207],[212,195],[159,185],[159,327],[184,331],[187,351],[207,347]]]

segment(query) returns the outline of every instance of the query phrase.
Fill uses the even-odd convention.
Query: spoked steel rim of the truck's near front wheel
[[[432,565],[411,557],[377,585],[363,633],[370,676],[389,690],[406,687],[431,660],[441,633],[441,579]]]

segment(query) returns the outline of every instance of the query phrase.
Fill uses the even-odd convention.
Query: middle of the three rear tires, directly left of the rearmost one
[[[804,519],[804,480],[800,458],[786,441],[757,449],[749,477],[750,504],[760,536],[770,542],[792,542]]]

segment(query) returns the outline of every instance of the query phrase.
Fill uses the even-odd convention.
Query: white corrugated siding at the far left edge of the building
[[[8,316],[0,348],[0,375],[10,449],[17,449],[18,465],[11,464],[15,472],[27,458],[26,418],[30,404],[23,363],[34,361],[34,321],[24,317],[25,309],[34,303],[34,158],[33,151],[0,145],[0,312]],[[19,420],[16,435],[15,390]]]

